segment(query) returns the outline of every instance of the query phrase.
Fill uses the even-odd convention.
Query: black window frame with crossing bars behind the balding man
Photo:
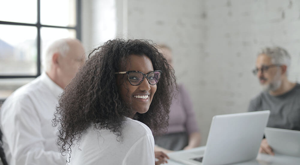
[[[76,0],[76,26],[51,26],[41,24],[41,0],[37,0],[37,23],[20,23],[0,21],[0,25],[34,26],[37,28],[37,74],[36,75],[0,75],[0,79],[36,78],[41,75],[41,27],[74,29],[76,38],[81,41],[81,0]]]

